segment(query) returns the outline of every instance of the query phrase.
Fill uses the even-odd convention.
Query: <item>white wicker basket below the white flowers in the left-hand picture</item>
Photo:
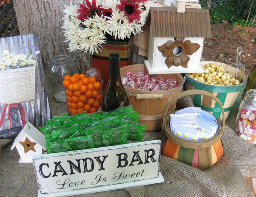
[[[0,71],[0,103],[35,100],[35,66]]]

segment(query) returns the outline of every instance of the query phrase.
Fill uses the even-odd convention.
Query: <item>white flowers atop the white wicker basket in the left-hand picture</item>
[[[35,65],[36,61],[33,59],[33,57],[29,57],[25,54],[12,54],[8,50],[3,51],[0,57],[0,71],[25,68]]]

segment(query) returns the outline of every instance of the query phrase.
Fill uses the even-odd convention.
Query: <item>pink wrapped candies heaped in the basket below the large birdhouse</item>
[[[160,91],[169,90],[177,87],[179,84],[173,79],[164,79],[156,75],[149,75],[147,71],[130,72],[127,71],[122,77],[124,86],[139,90]]]

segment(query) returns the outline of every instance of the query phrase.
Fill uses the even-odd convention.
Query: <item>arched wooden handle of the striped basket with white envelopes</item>
[[[163,114],[163,124],[162,124],[162,130],[164,130],[164,122],[165,122],[165,119],[166,119],[166,115],[167,115],[167,112],[168,112],[168,109],[170,107],[170,105],[175,102],[176,100],[182,98],[182,97],[185,97],[185,96],[190,96],[190,95],[195,95],[195,94],[199,94],[199,95],[203,95],[203,96],[208,96],[208,97],[211,97],[212,99],[214,99],[220,106],[221,106],[221,110],[222,110],[222,126],[223,126],[223,131],[224,131],[224,126],[225,126],[225,112],[224,112],[224,108],[223,108],[223,105],[221,103],[221,101],[216,97],[214,96],[213,94],[207,92],[207,91],[204,91],[204,90],[187,90],[187,91],[184,91],[184,92],[181,92],[179,94],[177,94],[176,96],[174,96],[173,98],[171,98],[168,103],[166,104],[166,109],[164,111],[164,114]]]

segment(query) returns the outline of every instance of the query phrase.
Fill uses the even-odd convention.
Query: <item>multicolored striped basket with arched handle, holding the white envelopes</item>
[[[188,90],[173,97],[168,102],[166,111],[163,115],[162,129],[167,136],[167,140],[162,145],[162,154],[177,161],[183,162],[189,166],[204,170],[216,164],[223,155],[221,136],[224,132],[225,119],[223,118],[223,122],[221,124],[220,120],[216,118],[218,122],[218,131],[212,138],[208,140],[190,141],[178,138],[173,134],[173,132],[171,132],[170,129],[171,112],[168,113],[168,107],[178,99],[190,95],[208,96],[214,99],[221,106],[221,109],[224,112],[220,100],[213,94],[203,90]]]

